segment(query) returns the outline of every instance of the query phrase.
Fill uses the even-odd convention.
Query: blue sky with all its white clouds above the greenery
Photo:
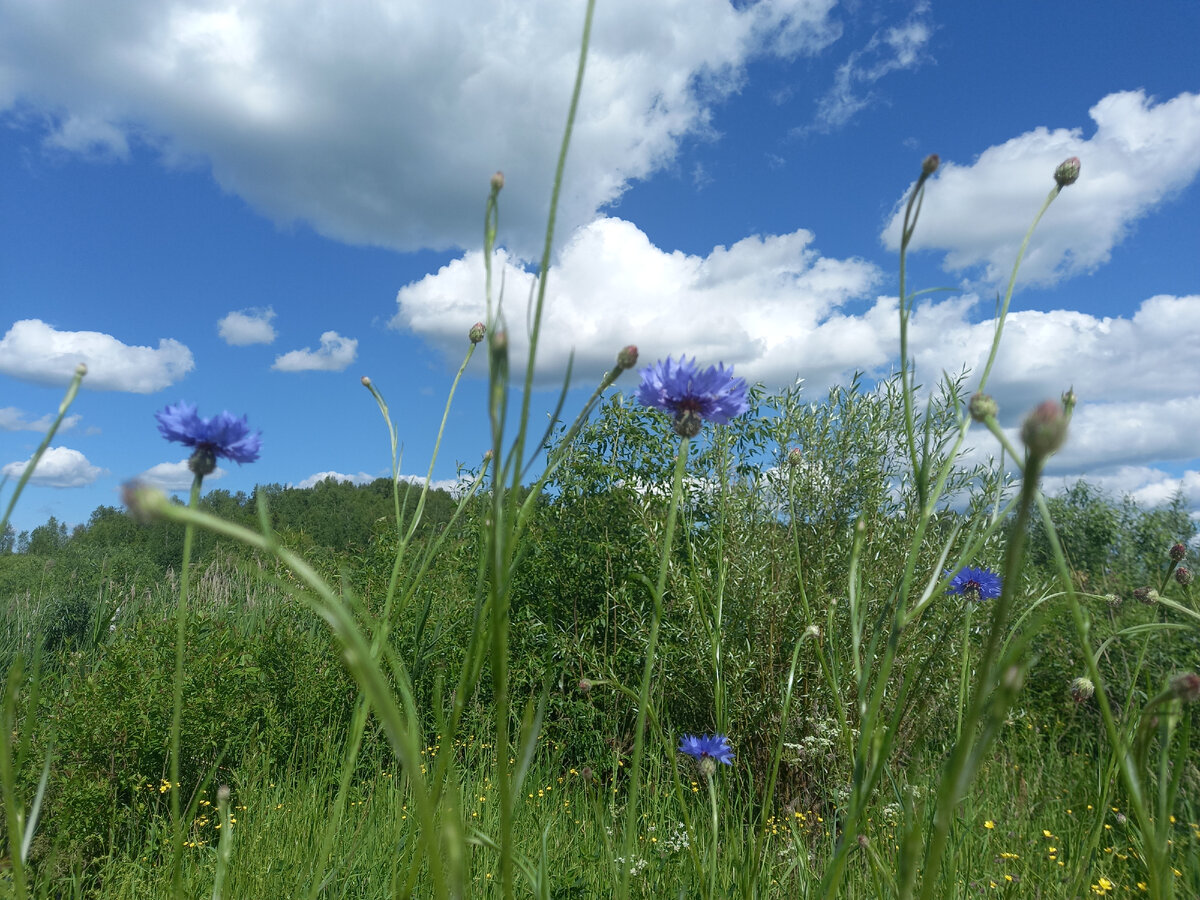
[[[574,0],[0,0],[4,472],[90,368],[17,528],[86,521],[133,476],[185,487],[152,418],[178,400],[263,431],[259,462],[206,486],[368,479],[390,466],[368,374],[424,473],[482,317],[497,169],[497,264],[510,308],[524,296],[582,18]],[[887,374],[895,215],[930,152],[911,274],[954,290],[913,319],[918,371],[978,366],[1015,247],[1079,156],[990,386],[1015,425],[1074,385],[1050,487],[1086,474],[1200,508],[1198,34],[1180,2],[600,0],[540,383],[574,347],[582,400],[626,343],[803,377],[814,398]],[[437,478],[485,449],[482,394],[480,366]]]

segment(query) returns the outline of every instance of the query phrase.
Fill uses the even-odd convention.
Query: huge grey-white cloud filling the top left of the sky
[[[592,218],[708,127],[763,55],[840,34],[834,0],[598,5],[559,222]],[[403,250],[474,246],[487,179],[510,186],[505,233],[536,247],[570,100],[581,4],[307,0],[106,5],[0,0],[0,108],[46,142],[168,164],[205,161],[280,222]]]

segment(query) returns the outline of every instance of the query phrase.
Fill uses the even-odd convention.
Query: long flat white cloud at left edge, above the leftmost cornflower
[[[152,394],[192,371],[192,352],[162,338],[157,349],[131,347],[101,331],[59,331],[41,319],[22,319],[0,338],[0,372],[36,384],[61,385],[88,365],[83,386]]]

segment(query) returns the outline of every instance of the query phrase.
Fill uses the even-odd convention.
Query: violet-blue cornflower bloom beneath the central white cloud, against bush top
[[[674,430],[685,438],[700,433],[707,419],[725,425],[746,408],[746,383],[724,365],[701,370],[696,360],[670,356],[641,371],[637,400],[642,406],[674,414]]]

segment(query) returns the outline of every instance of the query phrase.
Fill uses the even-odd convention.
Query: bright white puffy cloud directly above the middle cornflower
[[[830,382],[884,364],[894,305],[880,301],[862,317],[842,312],[866,295],[877,270],[860,259],[822,257],[812,241],[804,229],[756,235],[700,257],[662,251],[624,220],[599,218],[571,236],[550,272],[539,376],[559,378],[572,348],[580,377],[599,376],[628,343],[643,360],[688,353],[776,384],[797,373]],[[497,284],[503,272],[511,355],[520,365],[534,277],[504,252],[493,266]],[[458,355],[470,324],[484,317],[482,253],[406,286],[396,300],[392,326]]]

